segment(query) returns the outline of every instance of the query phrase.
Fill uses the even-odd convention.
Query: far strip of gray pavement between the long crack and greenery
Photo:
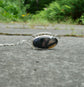
[[[37,32],[51,32],[53,34],[84,35],[84,25],[64,25],[56,24],[49,26],[34,26],[33,29],[28,24],[2,24],[0,23],[0,33],[8,34],[35,34]]]

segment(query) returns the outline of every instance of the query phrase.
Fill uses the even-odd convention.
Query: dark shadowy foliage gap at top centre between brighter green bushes
[[[27,12],[35,13],[36,11],[42,10],[46,5],[49,5],[55,0],[25,0],[24,5],[29,5]]]

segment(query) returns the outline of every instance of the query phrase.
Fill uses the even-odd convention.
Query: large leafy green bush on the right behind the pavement
[[[44,12],[41,11],[40,16],[50,21],[66,21],[68,18],[76,20],[84,13],[83,5],[84,0],[56,0]]]

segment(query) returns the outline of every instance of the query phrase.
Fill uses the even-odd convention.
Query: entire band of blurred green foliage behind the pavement
[[[32,17],[33,14],[34,16]],[[0,0],[1,20],[78,20],[84,24],[84,0]]]

